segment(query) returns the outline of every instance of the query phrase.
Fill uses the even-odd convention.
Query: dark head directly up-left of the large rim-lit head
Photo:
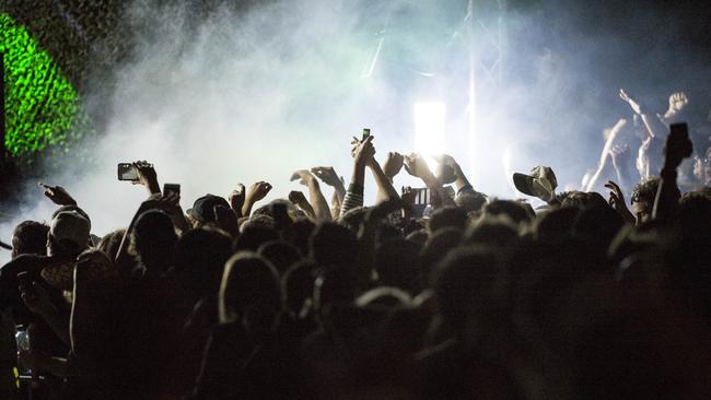
[[[175,246],[176,272],[200,295],[214,295],[231,255],[230,236],[218,230],[193,230],[180,236]]]

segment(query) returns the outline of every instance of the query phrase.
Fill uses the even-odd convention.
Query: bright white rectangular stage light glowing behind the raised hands
[[[415,103],[415,151],[423,155],[444,153],[446,105],[443,102]]]

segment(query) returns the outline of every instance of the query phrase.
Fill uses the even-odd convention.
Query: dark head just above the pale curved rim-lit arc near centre
[[[416,295],[422,290],[420,246],[405,239],[393,239],[375,250],[375,271],[382,284],[399,287]]]

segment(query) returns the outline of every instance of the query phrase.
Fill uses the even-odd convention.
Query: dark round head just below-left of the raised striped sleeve
[[[316,226],[310,248],[312,259],[320,268],[353,266],[360,254],[356,234],[333,222]]]

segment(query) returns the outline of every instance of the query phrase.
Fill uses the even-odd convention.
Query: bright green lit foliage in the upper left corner
[[[24,27],[0,13],[5,64],[5,149],[21,158],[45,150],[69,152],[93,132],[78,93]]]

